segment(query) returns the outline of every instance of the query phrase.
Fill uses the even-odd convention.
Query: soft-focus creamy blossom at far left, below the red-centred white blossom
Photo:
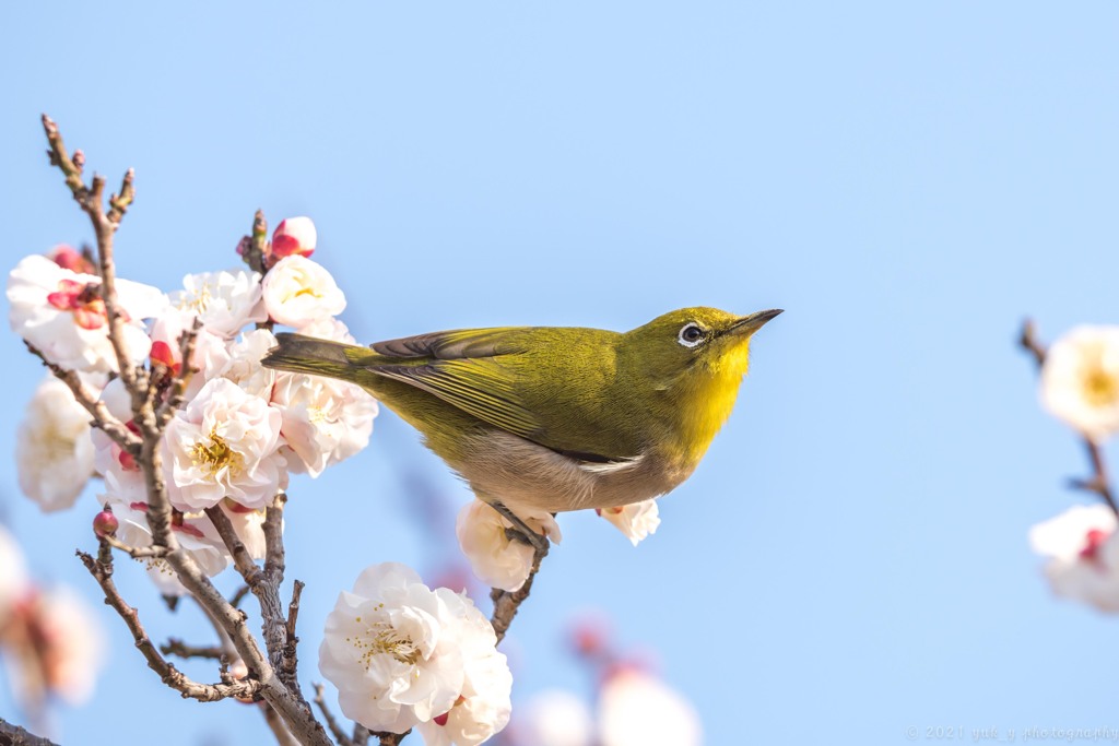
[[[74,504],[93,475],[90,413],[48,376],[31,396],[16,441],[19,488],[44,512]]]

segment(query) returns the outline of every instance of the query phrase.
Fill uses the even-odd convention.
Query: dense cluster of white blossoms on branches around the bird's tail
[[[289,218],[269,244],[263,275],[246,268],[190,274],[169,293],[115,282],[125,362],[147,365],[163,381],[164,396],[172,375],[184,366],[190,371],[184,406],[159,444],[160,462],[177,538],[210,575],[231,557],[203,511],[220,507],[261,558],[261,509],[286,488],[289,474],[318,476],[369,441],[377,403],[364,389],[261,365],[276,342],[276,323],[355,341],[336,318],[346,308],[342,291],[310,258],[314,242],[309,218]],[[7,295],[12,331],[49,362],[75,371],[110,414],[135,431],[131,395],[116,376],[120,359],[102,277],[90,258],[69,247],[25,257],[9,274]],[[200,327],[185,361],[181,340],[196,321]],[[72,507],[97,474],[104,480],[100,501],[119,522],[117,538],[134,547],[151,542],[144,475],[132,454],[91,429],[69,387],[54,377],[40,385],[18,447],[20,487],[43,510]],[[164,593],[181,593],[166,566],[149,569]]]

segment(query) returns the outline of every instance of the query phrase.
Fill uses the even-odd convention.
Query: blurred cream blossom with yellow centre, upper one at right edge
[[[1041,398],[1054,416],[1093,440],[1119,429],[1119,327],[1076,327],[1053,342]]]

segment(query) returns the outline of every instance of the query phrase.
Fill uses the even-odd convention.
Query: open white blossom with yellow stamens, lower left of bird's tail
[[[163,468],[171,504],[190,512],[222,498],[263,508],[286,487],[281,414],[227,378],[207,383],[175,414],[163,436]]]

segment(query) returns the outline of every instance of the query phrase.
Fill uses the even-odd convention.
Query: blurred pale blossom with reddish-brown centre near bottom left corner
[[[31,594],[3,631],[12,689],[29,710],[49,696],[81,705],[104,663],[105,635],[93,610],[68,588]]]

